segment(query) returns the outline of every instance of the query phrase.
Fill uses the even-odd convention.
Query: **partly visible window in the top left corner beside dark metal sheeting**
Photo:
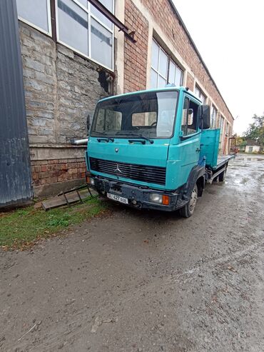
[[[50,0],[16,0],[21,21],[51,36]]]

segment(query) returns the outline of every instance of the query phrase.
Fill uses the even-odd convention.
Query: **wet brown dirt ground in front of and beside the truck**
[[[264,351],[263,196],[238,156],[191,218],[112,206],[1,252],[0,351]]]

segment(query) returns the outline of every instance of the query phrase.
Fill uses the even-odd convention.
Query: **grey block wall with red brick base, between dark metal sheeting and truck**
[[[34,196],[85,181],[86,119],[108,96],[100,66],[19,21]],[[111,89],[109,89],[111,91]]]

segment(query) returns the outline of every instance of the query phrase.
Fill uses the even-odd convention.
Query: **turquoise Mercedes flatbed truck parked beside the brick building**
[[[87,183],[135,208],[188,218],[205,183],[223,181],[233,156],[218,156],[210,107],[186,87],[137,91],[98,101],[86,150]]]

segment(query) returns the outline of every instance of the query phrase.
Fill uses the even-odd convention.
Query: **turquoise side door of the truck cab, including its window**
[[[180,130],[180,155],[183,183],[198,164],[200,157],[200,130],[198,129],[198,103],[185,96]]]

